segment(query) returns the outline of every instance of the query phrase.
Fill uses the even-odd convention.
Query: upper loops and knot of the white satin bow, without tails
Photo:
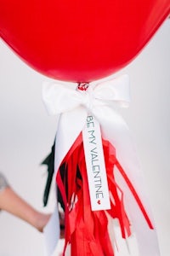
[[[90,84],[87,90],[72,90],[67,84],[43,84],[42,99],[48,108],[48,113],[57,115],[83,106],[90,112],[97,106],[112,106],[117,102],[127,107],[130,102],[129,77],[122,75],[118,79],[111,79],[93,88]]]

